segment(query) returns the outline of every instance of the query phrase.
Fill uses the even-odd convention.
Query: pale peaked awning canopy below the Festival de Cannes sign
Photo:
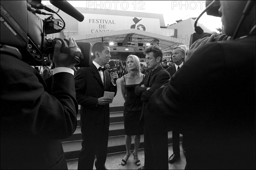
[[[174,37],[167,37],[161,34],[154,34],[138,29],[101,32],[90,35],[76,35],[73,36],[73,38],[75,38],[77,42],[89,42],[92,45],[96,42],[114,42],[114,45],[110,45],[113,48],[119,46],[145,48],[146,43],[152,43],[155,38],[160,40],[160,48],[162,48],[163,51],[167,51],[181,45],[181,43],[174,41]]]

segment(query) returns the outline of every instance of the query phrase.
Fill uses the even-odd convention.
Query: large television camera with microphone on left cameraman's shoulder
[[[65,0],[50,0],[50,3],[80,22],[84,16]],[[62,33],[65,22],[41,0],[10,1],[1,0],[1,54],[17,57],[29,65],[44,65],[45,59],[52,59],[57,40],[62,43],[61,52],[68,53],[77,60],[77,67],[88,67],[91,63],[92,45],[76,42],[79,48],[69,48],[68,40],[47,39],[47,34]],[[44,12],[44,11],[45,12]],[[55,19],[56,14],[60,19]],[[49,17],[42,20],[39,16]]]

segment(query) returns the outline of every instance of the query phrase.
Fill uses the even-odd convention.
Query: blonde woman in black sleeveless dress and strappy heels
[[[138,149],[140,145],[140,135],[143,134],[143,124],[140,124],[140,113],[142,101],[134,93],[135,87],[142,82],[144,74],[140,72],[140,60],[135,55],[129,55],[126,59],[126,68],[128,74],[120,79],[122,96],[125,99],[124,104],[124,125],[125,125],[125,146],[126,155],[121,164],[125,165],[131,155],[131,136],[134,137],[134,160],[137,166],[140,166],[138,158]]]

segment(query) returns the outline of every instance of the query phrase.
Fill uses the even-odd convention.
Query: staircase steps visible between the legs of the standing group
[[[124,118],[123,118],[123,106],[110,108],[110,126],[109,126],[109,138],[108,138],[108,154],[125,152],[125,130],[124,130]],[[76,131],[67,139],[62,140],[62,146],[64,154],[67,160],[78,159],[81,150],[82,134],[80,128],[80,105],[79,114],[77,115],[77,127]],[[134,149],[134,136],[132,137],[131,150]],[[180,135],[180,141],[182,141],[182,135]],[[172,132],[168,132],[168,144],[172,144]],[[144,148],[144,136],[141,135],[140,148]]]

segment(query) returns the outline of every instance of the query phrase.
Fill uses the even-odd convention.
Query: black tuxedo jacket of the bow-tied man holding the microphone
[[[104,91],[115,92],[116,95],[117,87],[112,84],[108,71],[104,71],[103,85],[94,64],[80,68],[75,74],[75,84],[76,99],[81,105],[81,132],[88,130],[83,128],[83,122],[88,121],[86,119],[109,125],[109,105],[97,105],[98,98],[104,96]]]

